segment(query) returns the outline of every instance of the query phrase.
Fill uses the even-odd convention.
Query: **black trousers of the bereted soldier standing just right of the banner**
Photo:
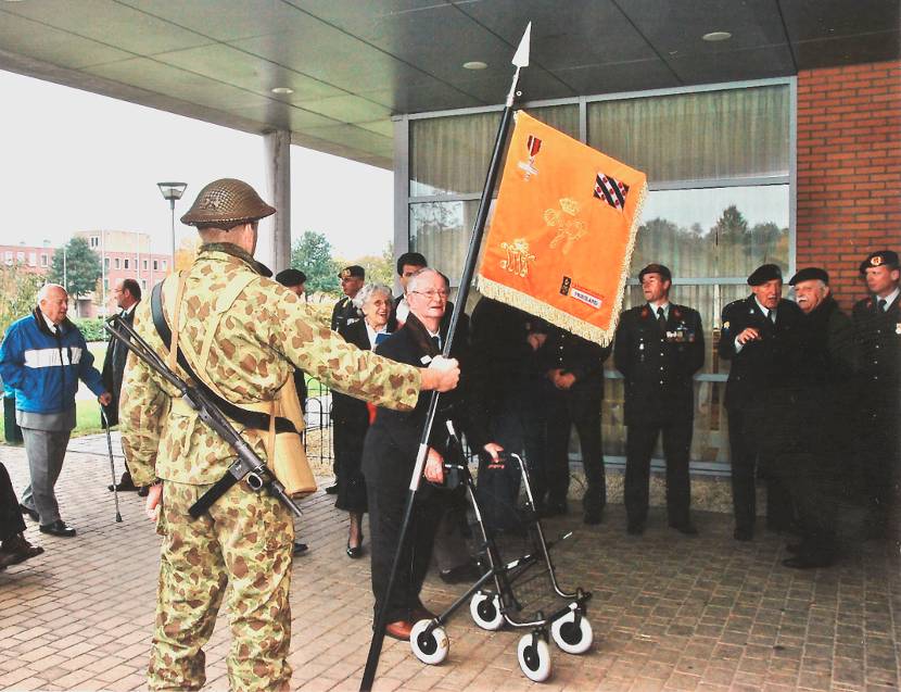
[[[663,436],[667,458],[667,515],[671,526],[688,524],[691,486],[688,457],[693,420],[632,422],[625,436],[625,513],[631,525],[644,524],[648,516],[650,456],[657,437]]]

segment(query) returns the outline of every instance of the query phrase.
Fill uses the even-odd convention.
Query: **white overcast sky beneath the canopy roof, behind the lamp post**
[[[266,197],[263,139],[0,71],[3,243],[59,247],[73,231],[140,230],[168,252],[170,212],[156,183],[188,183],[176,232],[211,180],[241,178]],[[393,237],[390,171],[291,147],[292,237],[326,234],[345,259]],[[267,200],[268,201],[268,200]]]

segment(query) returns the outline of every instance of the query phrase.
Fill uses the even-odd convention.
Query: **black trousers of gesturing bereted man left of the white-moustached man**
[[[778,451],[770,449],[767,442],[774,436],[765,425],[754,410],[728,412],[732,504],[735,528],[743,531],[753,531],[757,520],[758,471],[766,478],[766,527],[784,530],[795,518],[791,492],[775,469]]]

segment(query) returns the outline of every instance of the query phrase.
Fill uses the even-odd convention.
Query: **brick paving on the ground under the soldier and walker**
[[[42,536],[29,521],[29,540],[47,552],[0,573],[0,689],[144,689],[158,542],[135,493],[119,495],[124,520],[114,521],[104,454],[100,436],[69,446],[58,495],[78,536]],[[21,493],[23,450],[0,446],[0,461]],[[328,495],[303,506],[310,551],[294,564],[292,687],[356,690],[371,627],[368,561],[344,555],[346,515]],[[667,529],[659,509],[637,539],[623,530],[622,505],[599,527],[579,519],[545,527],[573,531],[555,561],[564,586],[595,594],[595,643],[582,656],[551,645],[554,672],[542,689],[899,690],[901,559],[886,544],[851,544],[830,569],[795,571],[781,565],[781,537],[737,543],[724,514],[698,513],[697,538]],[[437,609],[461,590],[430,577],[423,601]],[[376,689],[535,687],[517,664],[520,633],[480,630],[467,609],[447,629],[451,655],[435,667],[386,639]],[[227,689],[228,644],[223,613],[206,647],[205,689]]]

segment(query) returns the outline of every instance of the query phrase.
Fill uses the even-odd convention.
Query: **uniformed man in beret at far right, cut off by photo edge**
[[[870,538],[901,539],[901,269],[898,253],[873,252],[861,263],[870,297],[854,305],[859,349],[859,467]]]

